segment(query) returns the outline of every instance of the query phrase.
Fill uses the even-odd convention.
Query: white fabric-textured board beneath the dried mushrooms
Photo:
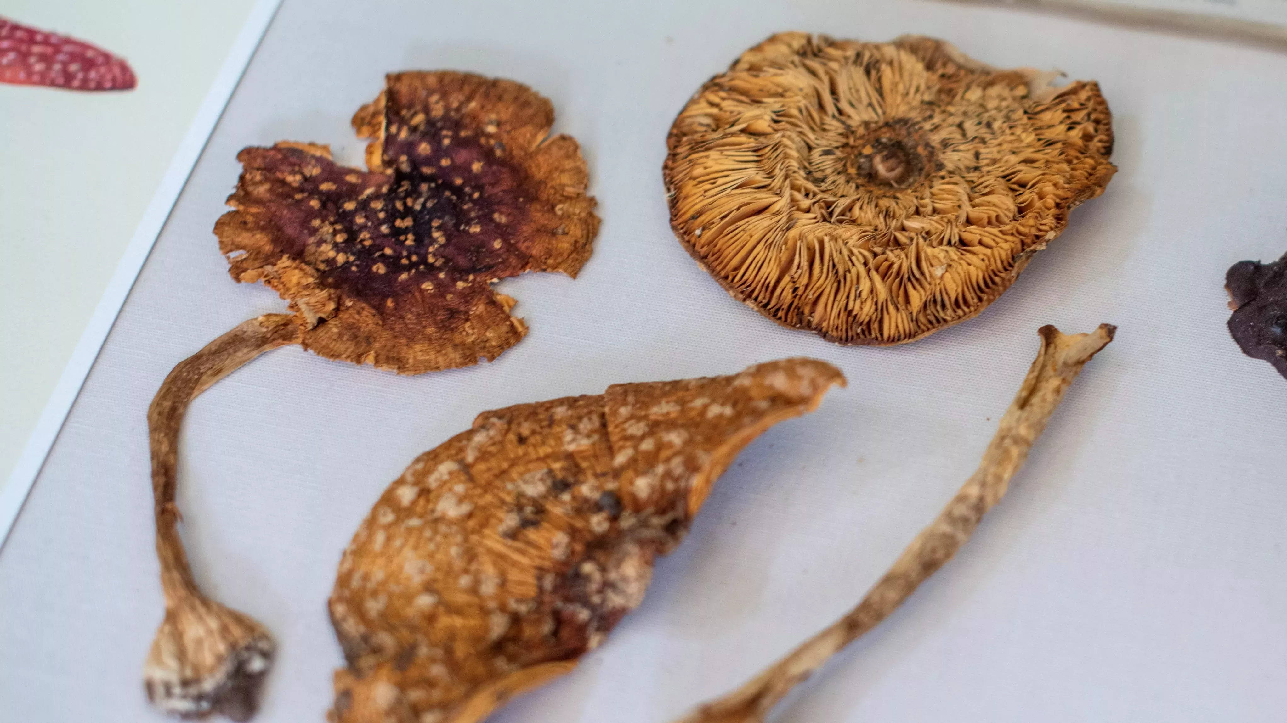
[[[921,32],[996,66],[1094,77],[1121,172],[981,318],[894,349],[781,329],[667,226],[685,99],[779,30]],[[400,378],[297,349],[188,416],[180,507],[198,579],[281,655],[261,723],[320,720],[324,601],[385,485],[484,409],[788,355],[848,376],[750,445],[647,599],[499,722],[665,723],[858,599],[973,471],[1036,329],[1120,325],[963,553],[794,696],[780,720],[1277,720],[1287,702],[1287,382],[1230,341],[1221,288],[1287,250],[1287,55],[925,1],[288,0],[211,138],[0,554],[0,720],[157,720],[161,619],[144,414],[166,372],[283,304],[210,233],[247,144],[332,143],[385,71],[530,84],[587,154],[604,219],[577,280],[503,284],[532,333],[495,363]]]

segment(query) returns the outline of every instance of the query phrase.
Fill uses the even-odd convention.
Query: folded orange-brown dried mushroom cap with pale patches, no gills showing
[[[788,359],[485,412],[385,490],[340,563],[335,723],[466,723],[569,670],[712,482],[844,378]]]

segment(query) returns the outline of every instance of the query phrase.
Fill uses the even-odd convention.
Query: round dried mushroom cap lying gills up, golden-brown
[[[1116,170],[1099,86],[1050,77],[927,37],[775,35],[676,118],[671,225],[781,324],[920,338],[996,300]]]

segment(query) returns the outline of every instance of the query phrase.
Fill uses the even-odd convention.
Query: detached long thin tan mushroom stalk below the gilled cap
[[[1116,327],[1100,324],[1085,334],[1041,327],[1041,349],[1014,403],[983,453],[983,461],[932,525],[916,535],[862,601],[759,675],[731,693],[699,706],[676,723],[762,723],[797,684],[867,630],[889,616],[974,533],[983,515],[1005,495],[1010,477],[1081,368],[1113,338]]]

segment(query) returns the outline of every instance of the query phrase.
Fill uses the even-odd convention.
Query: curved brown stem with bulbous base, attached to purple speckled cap
[[[207,598],[197,588],[176,524],[175,471],[179,427],[188,404],[211,385],[260,354],[299,343],[290,314],[250,319],[180,362],[148,408],[157,558],[165,592],[165,620],[152,641],[143,678],[148,699],[166,713],[205,717],[223,713],[246,720],[255,713],[274,645],[247,615]]]

